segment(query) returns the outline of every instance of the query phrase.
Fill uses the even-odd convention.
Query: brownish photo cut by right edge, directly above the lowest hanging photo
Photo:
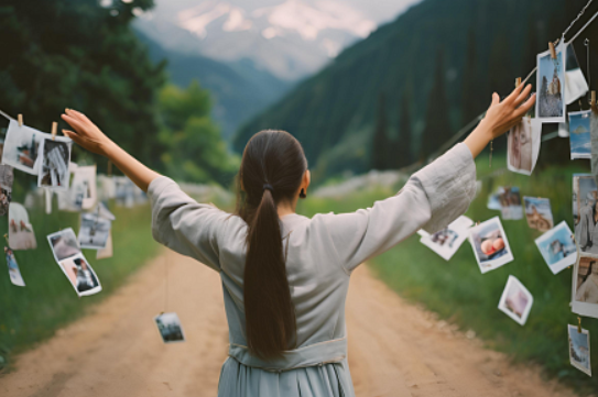
[[[579,255],[572,282],[572,311],[598,318],[598,256]]]

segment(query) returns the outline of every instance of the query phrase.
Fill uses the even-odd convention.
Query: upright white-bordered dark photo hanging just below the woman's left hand
[[[66,136],[55,136],[44,141],[37,175],[39,187],[68,189],[72,146],[73,141]]]

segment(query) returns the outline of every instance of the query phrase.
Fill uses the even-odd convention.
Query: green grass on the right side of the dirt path
[[[480,156],[477,167],[478,179],[483,178],[482,190],[466,214],[475,221],[499,216],[499,211],[486,208],[488,195],[498,186],[519,186],[522,196],[550,198],[555,224],[566,220],[573,228],[572,175],[588,172],[588,167],[583,162],[569,164],[539,169],[531,177],[510,172],[490,177],[505,167],[504,156],[494,156],[492,168],[488,167],[488,157]],[[301,202],[298,212],[313,216],[354,211],[371,207],[374,200],[396,191],[378,188],[338,199],[311,198]],[[577,316],[569,308],[572,269],[552,274],[534,243],[541,233],[530,229],[525,219],[502,221],[502,224],[515,260],[485,275],[468,242],[447,263],[421,244],[417,235],[373,258],[369,265],[403,298],[423,304],[464,331],[474,330],[487,346],[508,353],[517,362],[539,363],[547,376],[565,381],[579,393],[598,389],[596,377],[589,378],[569,364],[567,323],[577,323]],[[497,308],[509,275],[518,277],[534,296],[524,327]],[[595,346],[591,362],[598,371],[598,319],[584,318],[581,324],[590,331],[590,345]]]

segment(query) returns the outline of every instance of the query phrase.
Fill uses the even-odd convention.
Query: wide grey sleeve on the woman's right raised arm
[[[476,196],[476,164],[459,143],[414,174],[393,197],[351,213],[325,214],[340,264],[347,273],[390,250],[420,229],[434,233],[465,213]]]

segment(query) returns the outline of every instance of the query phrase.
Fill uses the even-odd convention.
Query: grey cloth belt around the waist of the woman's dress
[[[280,359],[261,360],[249,353],[247,346],[231,343],[228,355],[239,363],[271,372],[283,372],[307,366],[338,363],[347,357],[347,338],[319,342],[289,350]]]

